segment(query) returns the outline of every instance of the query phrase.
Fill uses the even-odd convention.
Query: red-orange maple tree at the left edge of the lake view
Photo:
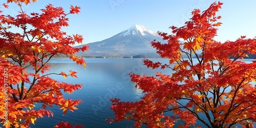
[[[0,118],[5,127],[29,127],[37,118],[53,116],[49,109],[53,105],[60,106],[63,114],[77,110],[81,100],[65,99],[63,92],[69,94],[81,89],[81,84],[59,82],[52,75],[77,77],[76,72],[47,73],[51,66],[48,62],[59,54],[66,55],[78,65],[86,67],[83,58],[76,53],[88,50],[88,46],[72,47],[82,43],[81,35],[68,35],[62,31],[68,27],[69,14],[78,14],[80,7],[71,6],[65,13],[63,8],[49,4],[39,13],[26,13],[22,4],[36,0],[8,0],[20,8],[16,16],[5,15],[0,10]],[[32,72],[27,70],[32,68]],[[37,109],[35,104],[37,103]],[[41,105],[41,109],[40,106]],[[38,109],[39,107],[39,109]],[[68,122],[60,122],[55,127],[72,126]]]

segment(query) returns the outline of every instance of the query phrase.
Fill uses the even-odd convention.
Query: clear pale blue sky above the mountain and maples
[[[68,34],[81,34],[83,44],[109,38],[132,25],[143,25],[157,32],[170,34],[169,26],[184,24],[190,18],[191,11],[205,10],[215,1],[207,0],[86,0],[86,1],[50,1],[38,0],[24,7],[28,12],[39,12],[48,4],[69,10],[70,5],[81,7],[78,15],[69,15],[70,26],[65,28]],[[256,1],[221,1],[222,26],[219,27],[217,41],[235,40],[241,35],[249,38],[256,36]],[[9,13],[14,15],[17,7],[9,5]],[[3,8],[1,8],[3,9]]]

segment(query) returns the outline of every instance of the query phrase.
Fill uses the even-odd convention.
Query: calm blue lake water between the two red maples
[[[53,67],[48,71],[60,73],[69,70],[76,71],[78,78],[53,75],[58,81],[67,83],[83,84],[81,90],[73,94],[64,94],[66,98],[81,99],[83,102],[77,106],[78,110],[67,112],[62,116],[62,110],[54,106],[50,110],[54,117],[39,118],[31,127],[45,128],[54,127],[60,121],[68,121],[71,124],[80,124],[84,127],[126,127],[133,126],[133,121],[122,121],[109,123],[106,118],[113,118],[114,113],[110,110],[111,98],[119,98],[122,101],[135,101],[143,96],[141,90],[135,88],[135,83],[130,81],[129,73],[155,75],[156,72],[172,74],[171,70],[147,69],[141,58],[86,58],[87,68],[76,65],[70,59],[52,59],[50,65]],[[151,58],[153,61],[168,63],[168,59]],[[251,60],[246,60],[251,62]],[[31,70],[31,69],[30,69]],[[40,106],[40,105],[38,105]],[[38,108],[39,109],[39,108]],[[200,124],[200,123],[198,123]],[[204,126],[204,125],[201,125]]]

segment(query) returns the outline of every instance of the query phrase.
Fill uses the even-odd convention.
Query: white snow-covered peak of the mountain
[[[119,34],[119,36],[126,36],[126,35],[142,35],[142,36],[144,36],[144,35],[148,35],[148,34],[158,36],[157,33],[153,32],[141,25],[133,25],[129,29],[122,31]]]

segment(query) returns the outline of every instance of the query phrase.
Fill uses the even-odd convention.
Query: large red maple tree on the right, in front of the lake
[[[256,38],[216,41],[221,5],[195,9],[184,26],[170,27],[172,34],[158,32],[166,43],[154,40],[152,46],[169,63],[144,59],[144,65],[170,74],[130,74],[144,95],[133,102],[111,99],[115,117],[107,121],[134,120],[135,127],[253,127],[256,61],[243,58],[256,53]]]

